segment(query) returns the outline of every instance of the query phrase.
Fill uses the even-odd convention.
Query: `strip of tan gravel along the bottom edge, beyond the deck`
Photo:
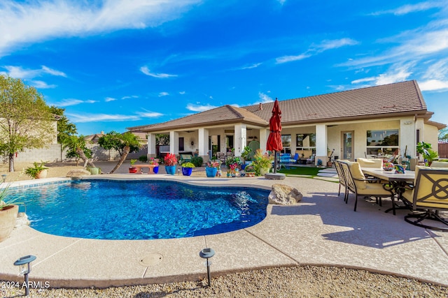
[[[3,285],[3,283],[2,283]],[[448,297],[448,288],[409,278],[337,267],[279,267],[202,281],[118,288],[30,289],[29,297]],[[1,288],[17,297],[22,288]]]

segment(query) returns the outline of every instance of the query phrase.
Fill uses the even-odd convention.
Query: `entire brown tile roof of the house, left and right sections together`
[[[281,124],[314,124],[323,121],[378,119],[394,115],[426,115],[426,103],[415,80],[279,101]],[[243,122],[269,126],[274,103],[233,107],[224,105],[172,121],[134,126],[130,131],[171,129]]]

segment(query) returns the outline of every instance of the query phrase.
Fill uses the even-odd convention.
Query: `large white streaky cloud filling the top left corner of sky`
[[[0,57],[21,45],[59,37],[157,27],[202,0],[52,0],[0,2]]]

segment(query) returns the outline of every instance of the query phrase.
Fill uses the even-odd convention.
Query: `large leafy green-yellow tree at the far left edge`
[[[0,154],[8,155],[9,172],[14,172],[16,152],[52,142],[54,125],[55,117],[34,87],[0,75]]]

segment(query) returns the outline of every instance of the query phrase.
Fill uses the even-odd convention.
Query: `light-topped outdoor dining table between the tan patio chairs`
[[[393,210],[393,215],[395,215],[395,209],[412,208],[407,200],[402,200],[402,193],[405,192],[406,186],[409,186],[409,184],[412,184],[414,182],[414,171],[406,170],[405,173],[398,174],[395,173],[395,170],[386,171],[383,169],[375,169],[372,167],[363,167],[362,170],[364,174],[368,174],[381,180],[388,181],[388,184],[383,184],[383,187],[396,193],[398,195],[398,200],[401,200],[405,204],[404,206],[398,206],[398,208],[387,209],[385,212]]]

